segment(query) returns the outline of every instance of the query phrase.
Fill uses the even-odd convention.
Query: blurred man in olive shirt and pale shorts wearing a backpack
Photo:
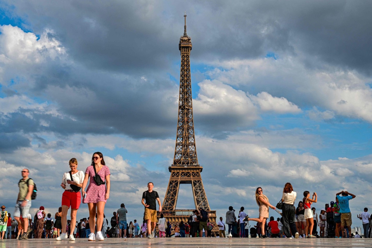
[[[27,229],[28,229],[28,212],[31,207],[31,196],[33,193],[33,188],[35,183],[31,178],[28,177],[29,170],[23,169],[22,170],[22,179],[19,180],[18,187],[19,192],[17,196],[16,208],[13,213],[14,219],[18,222],[18,226],[23,227],[23,234],[19,237],[19,239],[27,239]],[[20,221],[19,217],[22,215],[22,222]]]

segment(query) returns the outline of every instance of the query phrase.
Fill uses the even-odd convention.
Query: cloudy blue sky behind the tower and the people
[[[0,204],[12,213],[23,168],[31,212],[55,213],[70,158],[96,151],[111,171],[109,219],[121,203],[142,220],[142,192],[163,202],[173,162],[184,12],[193,113],[206,196],[258,216],[289,181],[370,204],[371,1],[0,1]],[[181,185],[177,209],[192,209]],[[297,204],[297,203],[296,203]],[[370,210],[372,212],[372,210]],[[81,204],[78,218],[88,216]],[[270,216],[279,217],[275,211]],[[254,223],[250,223],[254,225]]]

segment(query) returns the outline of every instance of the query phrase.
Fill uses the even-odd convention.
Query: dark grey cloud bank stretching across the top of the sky
[[[330,64],[367,73],[372,68],[370,1],[190,1],[187,6],[17,1],[15,6],[18,15],[27,13],[36,32],[48,23],[75,59],[106,70],[167,70],[179,57],[183,10],[193,56],[200,61],[295,54],[296,47]],[[29,13],[31,8],[37,11]]]

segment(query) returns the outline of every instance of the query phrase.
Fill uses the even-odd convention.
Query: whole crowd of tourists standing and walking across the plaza
[[[110,197],[110,170],[106,166],[103,155],[94,152],[92,163],[86,168],[85,173],[77,170],[78,162],[76,158],[69,161],[70,171],[62,175],[61,187],[64,189],[61,197],[61,207],[52,219],[51,213],[46,214],[44,206],[40,206],[35,215],[31,216],[29,209],[31,200],[36,198],[35,182],[29,178],[29,170],[22,170],[22,179],[19,180],[19,193],[17,195],[15,211],[13,217],[1,206],[0,212],[0,233],[1,239],[17,238],[55,238],[56,240],[75,238],[88,238],[88,241],[103,241],[106,238],[155,238],[170,237],[174,233],[175,237],[225,237],[227,231],[231,237],[255,237],[260,238],[349,238],[360,237],[357,233],[351,233],[352,217],[349,208],[349,200],[356,196],[348,191],[340,191],[336,194],[335,202],[325,204],[320,214],[315,212],[312,204],[317,203],[317,193],[311,196],[310,191],[304,191],[303,198],[295,207],[297,194],[291,183],[286,183],[280,203],[277,206],[270,204],[269,199],[263,194],[262,187],[256,189],[256,203],[259,206],[259,217],[250,218],[244,212],[244,207],[240,208],[238,215],[232,206],[226,212],[225,222],[222,217],[217,222],[219,233],[212,233],[215,227],[210,221],[208,212],[202,208],[193,210],[190,217],[179,223],[170,223],[161,213],[162,207],[159,195],[153,190],[154,184],[147,184],[148,190],[142,194],[141,203],[145,207],[142,223],[137,220],[127,222],[124,203],[121,204],[117,212],[113,213],[109,222],[104,214],[106,201]],[[89,185],[86,189],[86,186]],[[311,197],[310,197],[311,196]],[[83,198],[83,199],[82,199]],[[76,220],[76,214],[80,203],[87,203],[89,217]],[[156,203],[158,211],[161,213],[157,217]],[[274,220],[271,216],[269,222],[269,208],[277,210],[282,218]],[[67,219],[70,209],[70,219]],[[319,218],[318,218],[319,217]],[[357,215],[363,222],[363,237],[371,237],[372,216],[365,208],[364,212]],[[250,228],[249,221],[257,223]],[[74,223],[74,224],[72,224]],[[226,230],[226,224],[228,230]],[[155,227],[158,226],[158,233]],[[317,226],[320,228],[318,235]],[[75,232],[75,229],[77,230]]]

